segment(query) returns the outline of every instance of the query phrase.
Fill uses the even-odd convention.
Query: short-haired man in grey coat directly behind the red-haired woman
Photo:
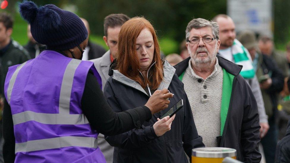
[[[117,55],[117,44],[118,36],[121,26],[130,18],[124,14],[110,14],[104,19],[104,36],[103,39],[108,46],[109,50],[105,54],[97,59],[90,60],[94,62],[94,66],[99,72],[102,83],[104,86],[102,90],[104,91],[105,83],[107,82],[110,64],[113,62]],[[106,140],[103,134],[98,135],[98,143],[101,151],[103,152],[106,161],[108,163],[113,162],[114,147],[112,147]]]

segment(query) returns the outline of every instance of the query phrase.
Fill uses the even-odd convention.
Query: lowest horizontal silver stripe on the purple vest
[[[15,153],[40,151],[71,146],[97,148],[98,142],[97,139],[94,137],[77,137],[77,136],[31,140],[24,143],[15,143]]]

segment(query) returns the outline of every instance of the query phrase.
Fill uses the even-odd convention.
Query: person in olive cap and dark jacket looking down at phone
[[[254,70],[260,83],[270,126],[270,129],[264,128],[264,131],[260,131],[262,138],[261,143],[263,145],[266,161],[274,162],[275,154],[273,155],[273,149],[275,149],[278,140],[278,125],[276,124],[278,95],[283,89],[284,76],[275,60],[259,51],[256,36],[253,31],[242,31],[237,39],[247,48],[253,59]]]

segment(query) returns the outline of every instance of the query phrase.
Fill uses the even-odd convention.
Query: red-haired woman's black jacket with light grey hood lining
[[[104,95],[113,110],[121,112],[133,106],[144,105],[150,95],[139,83],[113,69],[109,72],[111,77],[104,88]],[[115,147],[113,162],[186,163],[188,160],[185,152],[191,157],[193,148],[204,147],[202,138],[196,131],[183,83],[167,61],[164,62],[163,73],[163,81],[157,89],[168,88],[174,94],[174,97],[170,99],[169,107],[152,115],[152,118],[148,122],[144,122],[140,129],[105,137],[108,143]],[[171,130],[163,136],[157,137],[153,124],[180,99],[183,99],[184,106],[176,113]]]

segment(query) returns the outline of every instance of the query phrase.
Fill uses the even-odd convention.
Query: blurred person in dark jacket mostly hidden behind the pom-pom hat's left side
[[[37,57],[42,50],[46,47],[40,43],[37,43],[35,39],[32,37],[30,32],[30,25],[27,25],[27,37],[29,39],[28,43],[24,46],[24,48],[28,51],[30,58]]]

